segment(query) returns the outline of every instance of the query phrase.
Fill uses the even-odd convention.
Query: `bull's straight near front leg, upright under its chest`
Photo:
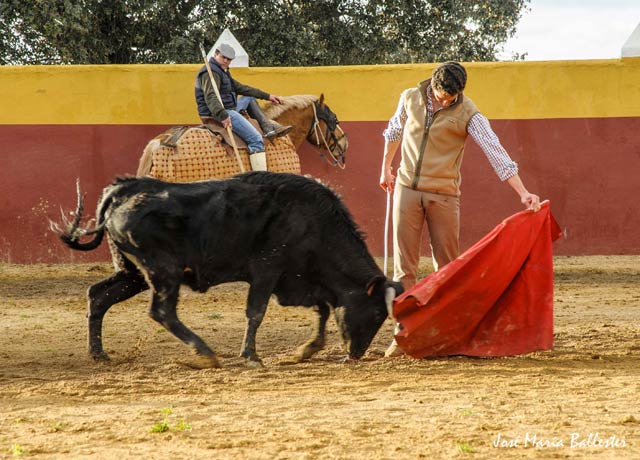
[[[272,290],[273,283],[266,280],[253,281],[249,286],[246,309],[247,328],[245,329],[242,351],[240,352],[240,356],[247,360],[249,367],[262,366],[262,360],[256,353],[256,334],[267,311],[267,304]]]

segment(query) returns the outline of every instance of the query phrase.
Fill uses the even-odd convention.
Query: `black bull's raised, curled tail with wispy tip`
[[[104,226],[106,224],[105,213],[111,203],[111,198],[109,195],[103,195],[100,200],[100,204],[98,205],[98,210],[96,211],[96,225],[94,228],[89,229],[80,226],[80,222],[82,221],[82,212],[84,211],[84,199],[82,192],[80,191],[79,180],[76,181],[76,192],[78,196],[78,205],[75,213],[73,213],[73,221],[69,222],[67,217],[64,215],[64,212],[62,212],[64,228],[51,220],[49,220],[49,228],[71,249],[75,249],[77,251],[92,251],[100,246],[100,243],[102,243],[102,239],[104,238]],[[91,241],[82,243],[80,238],[88,235],[95,236]]]

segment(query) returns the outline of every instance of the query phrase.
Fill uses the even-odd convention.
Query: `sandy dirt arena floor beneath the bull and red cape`
[[[640,458],[640,256],[557,257],[555,349],[501,359],[384,358],[388,321],[340,363],[331,319],[291,364],[313,312],[272,301],[249,369],[246,285],[185,289],[182,319],[225,366],[202,371],[147,293],[107,314],[112,361],[88,358],[86,288],[110,271],[0,264],[0,459]]]

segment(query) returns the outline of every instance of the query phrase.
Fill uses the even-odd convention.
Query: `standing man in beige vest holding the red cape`
[[[529,193],[509,157],[473,101],[463,93],[467,72],[457,62],[437,67],[430,79],[402,92],[383,136],[380,186],[393,191],[393,279],[405,289],[416,283],[420,240],[426,222],[436,270],[460,254],[460,166],[468,135],[483,150],[502,181],[529,209],[540,198]],[[391,163],[401,146],[397,177]],[[385,356],[402,351],[395,340]]]

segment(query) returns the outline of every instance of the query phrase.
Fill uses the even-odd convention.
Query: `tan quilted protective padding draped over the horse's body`
[[[249,121],[257,125],[255,120]],[[234,137],[242,165],[245,171],[251,171],[247,145]],[[195,182],[225,179],[241,172],[227,131],[220,125],[174,126],[156,139],[159,143],[151,152],[148,172],[151,177],[165,182]],[[143,157],[147,153],[145,150]],[[265,139],[265,153],[269,171],[300,174],[300,158],[289,136]]]

